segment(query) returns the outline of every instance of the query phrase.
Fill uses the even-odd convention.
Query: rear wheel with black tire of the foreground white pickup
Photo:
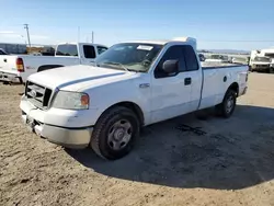
[[[237,92],[235,90],[229,89],[222,102],[215,106],[217,115],[225,118],[229,118],[235,112],[236,102],[237,102]],[[231,107],[228,104],[230,104]],[[230,108],[228,110],[228,107]]]

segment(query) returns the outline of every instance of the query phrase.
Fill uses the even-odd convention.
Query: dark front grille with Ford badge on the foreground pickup
[[[30,102],[39,108],[47,108],[53,90],[39,85],[37,83],[27,81],[25,88],[25,95]]]

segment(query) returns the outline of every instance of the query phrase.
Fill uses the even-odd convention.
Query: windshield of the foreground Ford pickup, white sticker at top
[[[162,45],[156,44],[116,44],[101,54],[95,59],[95,62],[99,67],[104,66],[114,69],[146,72],[161,48]]]

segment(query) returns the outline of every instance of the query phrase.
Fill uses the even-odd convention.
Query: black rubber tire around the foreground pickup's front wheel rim
[[[127,121],[132,125],[132,138],[119,150],[114,150],[111,147],[109,134],[111,129],[114,129],[114,124],[123,119]],[[96,154],[100,157],[107,159],[107,160],[116,160],[121,159],[134,147],[135,139],[139,136],[140,130],[140,123],[135,115],[135,113],[123,106],[115,106],[110,108],[109,111],[104,112],[101,117],[99,118],[96,125],[94,126],[94,130],[91,137],[91,147],[95,151]],[[113,133],[115,134],[115,133]],[[114,135],[113,135],[114,136]]]

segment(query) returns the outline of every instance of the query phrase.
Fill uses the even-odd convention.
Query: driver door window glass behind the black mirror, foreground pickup
[[[169,77],[163,70],[162,65],[165,60],[179,60],[179,72],[186,71],[185,59],[183,55],[183,46],[171,46],[162,56],[161,60],[159,61],[158,66],[155,70],[156,78],[164,78]]]

